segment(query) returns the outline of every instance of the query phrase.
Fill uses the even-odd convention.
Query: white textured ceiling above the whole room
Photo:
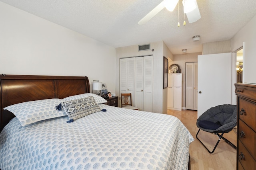
[[[202,44],[231,39],[256,15],[256,0],[197,0],[201,19],[183,26],[180,0],[173,12],[164,8],[138,25],[162,0],[0,0],[112,47],[164,41],[173,54],[201,52]],[[192,37],[200,35],[198,42]]]

